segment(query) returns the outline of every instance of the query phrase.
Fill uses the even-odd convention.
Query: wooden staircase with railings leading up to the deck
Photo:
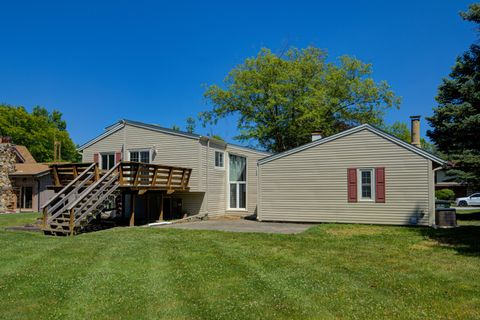
[[[42,208],[42,230],[48,235],[74,235],[97,217],[120,194],[120,163],[100,177],[90,165]]]

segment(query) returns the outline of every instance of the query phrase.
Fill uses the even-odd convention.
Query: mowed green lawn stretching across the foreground
[[[34,217],[0,215],[3,319],[480,318],[480,223],[467,214],[448,230],[3,231]]]

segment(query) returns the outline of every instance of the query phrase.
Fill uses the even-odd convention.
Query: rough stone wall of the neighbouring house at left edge
[[[14,209],[16,195],[9,174],[15,171],[15,153],[11,143],[0,143],[0,213]]]

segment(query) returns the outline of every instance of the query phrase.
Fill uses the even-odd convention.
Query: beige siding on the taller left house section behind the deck
[[[250,151],[205,138],[179,136],[126,124],[83,150],[83,161],[92,162],[94,153],[123,150],[128,159],[131,150],[157,150],[152,163],[192,168],[190,192],[175,192],[172,198],[182,198],[184,210],[190,214],[206,213],[217,216],[228,214],[249,215],[257,207],[257,161],[267,153]],[[224,169],[215,168],[215,151],[223,151]],[[227,211],[228,152],[247,158],[247,209]]]

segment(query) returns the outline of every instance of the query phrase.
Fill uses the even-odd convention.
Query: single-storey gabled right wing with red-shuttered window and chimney
[[[413,136],[419,140],[419,132]],[[261,159],[258,219],[433,225],[435,170],[443,165],[415,145],[360,125]]]

